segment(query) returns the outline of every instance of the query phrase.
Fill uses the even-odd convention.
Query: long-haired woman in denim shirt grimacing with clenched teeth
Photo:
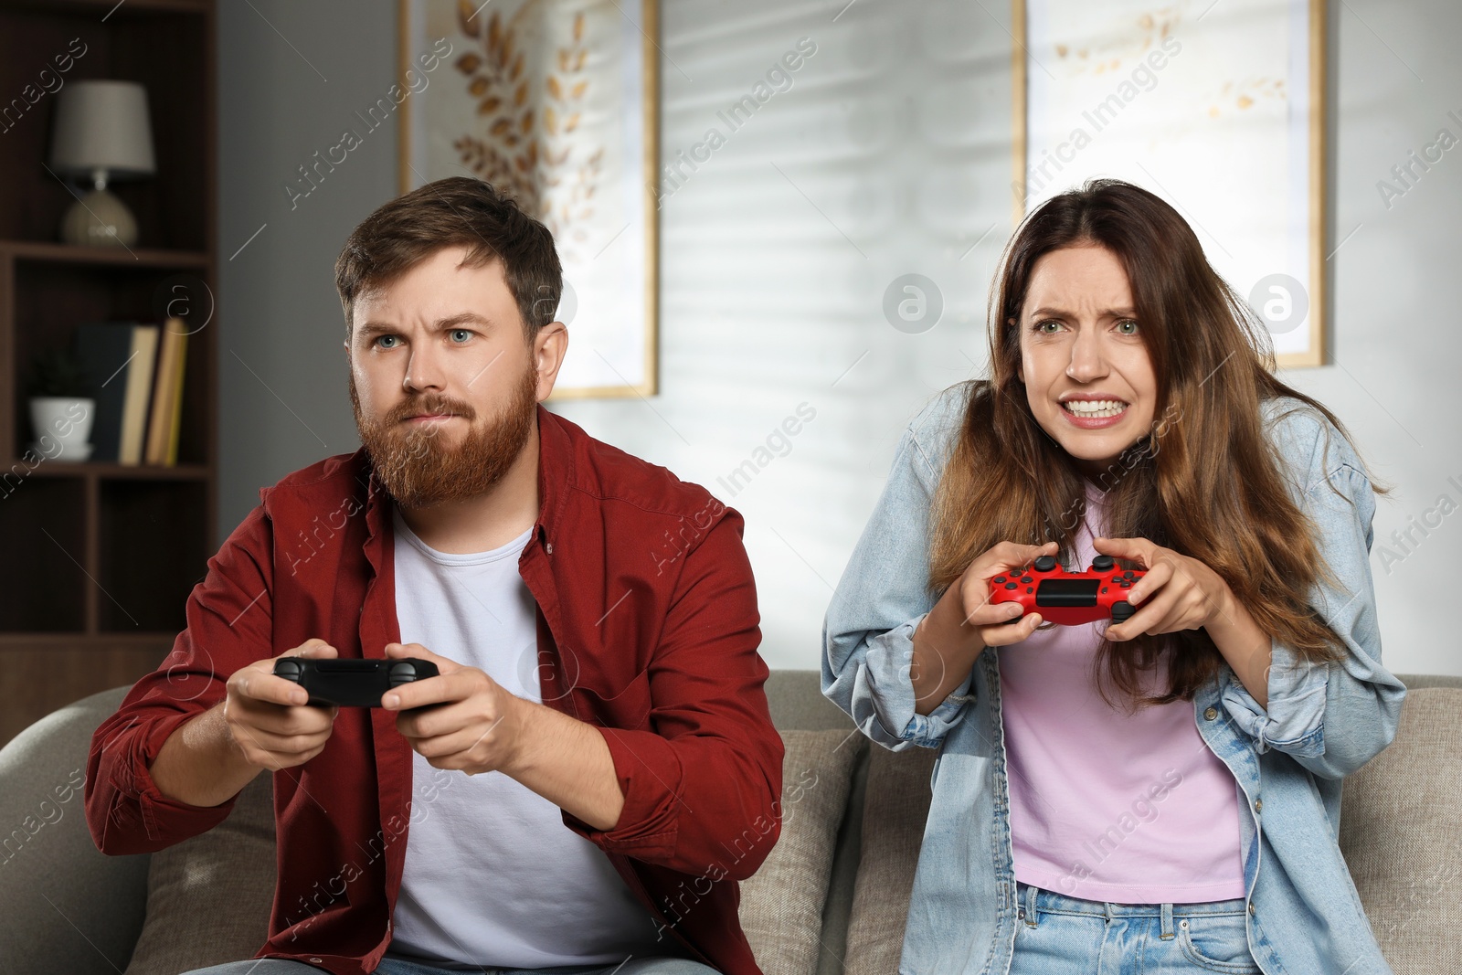
[[[991,304],[990,379],[909,425],[825,629],[823,691],[940,748],[899,971],[1389,972],[1336,846],[1405,694],[1344,428],[1135,186],[1035,210]],[[1146,570],[1135,615],[990,602],[1039,557]]]

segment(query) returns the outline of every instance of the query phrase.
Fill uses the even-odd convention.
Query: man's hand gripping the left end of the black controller
[[[339,653],[314,637],[282,656],[332,659]],[[307,706],[310,694],[303,687],[275,677],[273,665],[279,658],[254,661],[234,671],[224,700],[224,722],[244,760],[270,772],[292,769],[320,754],[339,713],[339,707]]]

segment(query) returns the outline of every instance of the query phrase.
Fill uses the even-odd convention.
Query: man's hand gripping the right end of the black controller
[[[415,656],[437,665],[439,677],[386,691],[382,707],[399,712],[396,729],[437,769],[468,775],[510,766],[522,743],[520,697],[475,667],[437,656],[420,643],[387,643],[386,656]]]

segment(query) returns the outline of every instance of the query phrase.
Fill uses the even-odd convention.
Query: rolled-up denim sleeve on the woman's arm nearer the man
[[[946,392],[909,424],[823,621],[823,694],[895,751],[937,748],[974,700],[968,674],[921,715],[909,672],[914,630],[936,602],[928,588],[934,488],[962,417],[963,396]]]

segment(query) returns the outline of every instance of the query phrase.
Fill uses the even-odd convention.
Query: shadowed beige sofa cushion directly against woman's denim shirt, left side
[[[899,971],[937,754],[933,748],[870,748],[863,854],[848,917],[846,975]]]

